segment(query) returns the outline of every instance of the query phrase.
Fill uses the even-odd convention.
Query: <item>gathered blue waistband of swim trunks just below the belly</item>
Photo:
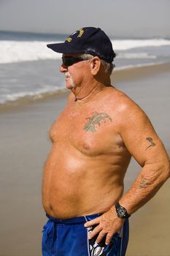
[[[95,218],[101,216],[101,214],[91,214],[91,215],[86,215],[86,216],[75,217],[72,219],[58,219],[55,217],[51,217],[48,214],[46,214],[46,216],[52,222],[55,222],[57,224],[80,224],[80,223],[85,223],[85,222],[89,221],[90,219],[95,219]]]

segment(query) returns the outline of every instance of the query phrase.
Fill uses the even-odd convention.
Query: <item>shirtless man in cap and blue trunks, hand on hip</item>
[[[123,256],[128,217],[169,178],[169,157],[144,111],[110,85],[115,53],[104,31],[83,28],[47,46],[63,53],[71,94],[50,129],[42,255]],[[131,156],[142,170],[123,195]]]

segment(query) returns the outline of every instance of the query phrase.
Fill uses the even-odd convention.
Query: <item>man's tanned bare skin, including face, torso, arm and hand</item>
[[[102,213],[85,227],[96,225],[89,238],[98,234],[99,243],[106,236],[109,244],[124,223],[115,203],[119,200],[129,214],[147,203],[169,178],[169,157],[141,108],[109,86],[98,57],[70,67],[62,64],[60,71],[72,92],[50,129],[53,146],[45,164],[43,206],[61,219]],[[142,170],[123,195],[131,156]]]

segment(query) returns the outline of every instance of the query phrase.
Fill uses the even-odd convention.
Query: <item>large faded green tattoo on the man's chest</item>
[[[103,121],[104,123],[106,123],[107,120],[112,122],[112,118],[107,115],[107,113],[94,112],[93,116],[87,117],[85,119],[87,119],[88,122],[85,124],[83,129],[89,132],[96,132],[96,126],[99,127]]]

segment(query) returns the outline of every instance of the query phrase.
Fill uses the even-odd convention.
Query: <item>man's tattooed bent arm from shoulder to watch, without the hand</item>
[[[130,122],[124,123],[121,136],[128,151],[142,166],[136,181],[119,201],[129,214],[133,214],[169,178],[169,157],[149,118],[138,106],[134,106]]]

